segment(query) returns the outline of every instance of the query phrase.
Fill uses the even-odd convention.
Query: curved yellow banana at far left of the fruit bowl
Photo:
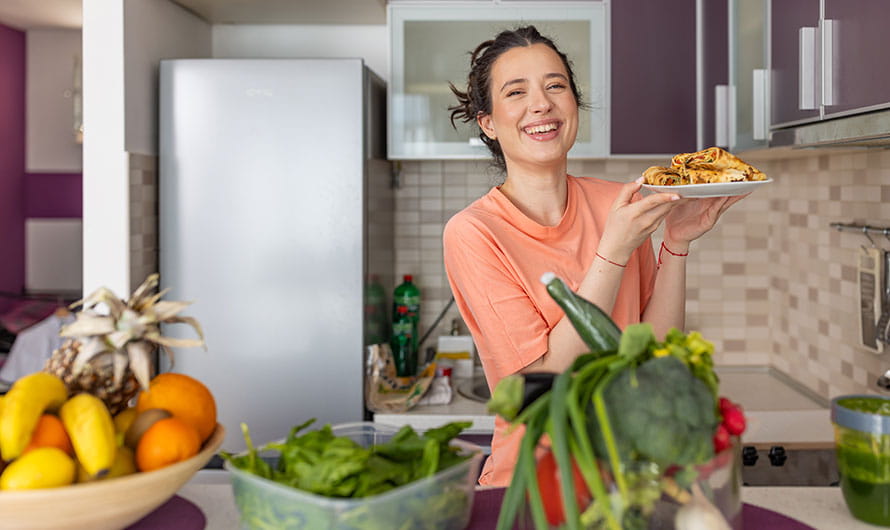
[[[22,453],[40,415],[65,402],[68,389],[57,376],[35,372],[17,380],[3,400],[0,415],[0,456],[10,461]]]

